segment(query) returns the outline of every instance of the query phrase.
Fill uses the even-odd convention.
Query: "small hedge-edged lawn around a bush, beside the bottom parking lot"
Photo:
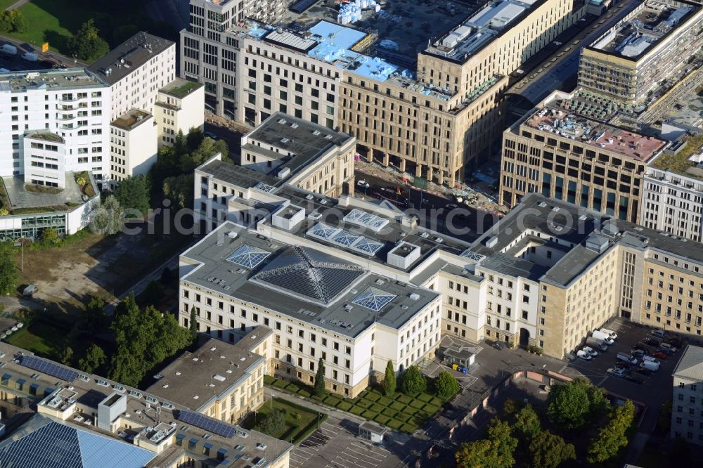
[[[260,418],[266,417],[272,410],[279,410],[285,417],[285,429],[280,434],[272,436],[292,443],[302,442],[312,431],[317,429],[318,417],[320,422],[327,419],[327,415],[318,416],[317,412],[309,410],[295,403],[280,398],[273,398],[273,402],[266,401],[256,413],[247,416],[241,426],[245,429],[253,429]]]

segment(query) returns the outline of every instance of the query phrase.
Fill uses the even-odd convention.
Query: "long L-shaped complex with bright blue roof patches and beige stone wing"
[[[369,160],[453,186],[497,136],[507,75],[582,7],[491,2],[418,54],[413,72],[364,55],[372,34],[325,20],[304,32],[229,23],[217,34],[191,23],[181,75],[205,84],[218,115],[256,125],[287,112],[352,134]]]

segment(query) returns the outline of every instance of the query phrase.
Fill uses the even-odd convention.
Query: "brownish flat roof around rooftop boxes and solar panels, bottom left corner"
[[[202,429],[202,427],[186,424],[178,420],[177,417],[179,412],[187,409],[182,405],[176,402],[163,401],[145,391],[121,385],[105,377],[87,375],[85,372],[66,368],[66,366],[52,363],[50,360],[44,360],[49,363],[49,366],[46,366],[45,370],[42,371],[25,367],[25,365],[20,363],[20,358],[22,358],[22,356],[32,356],[32,353],[12,346],[11,344],[0,342],[0,351],[4,353],[4,356],[0,358],[0,363],[2,364],[1,373],[8,382],[2,385],[2,387],[11,389],[13,394],[23,394],[25,398],[30,401],[39,401],[41,398],[44,398],[44,396],[53,394],[56,390],[62,388],[67,389],[68,386],[72,387],[70,394],[73,395],[77,403],[89,406],[90,408],[98,408],[98,403],[110,396],[113,392],[127,396],[127,411],[122,417],[130,421],[131,429],[120,427],[115,433],[119,433],[120,431],[131,431],[134,433],[134,431],[140,431],[141,428],[151,427],[152,431],[147,431],[147,433],[154,434],[157,427],[166,427],[166,425],[172,426],[175,429],[170,436],[176,439],[181,438],[188,442],[192,441],[195,445],[195,450],[191,452],[188,452],[189,443],[183,443],[181,447],[176,447],[178,450],[186,450],[186,453],[192,453],[193,457],[198,458],[202,457],[203,446],[207,443],[211,449],[210,453],[218,453],[219,450],[224,450],[226,461],[221,462],[219,466],[222,467],[244,467],[251,464],[250,462],[245,463],[243,455],[250,457],[249,460],[256,460],[257,457],[266,457],[266,460],[273,462],[273,460],[276,460],[278,457],[292,450],[293,446],[290,445],[290,443],[279,441],[276,438],[266,436],[257,431],[241,429],[238,426],[234,427],[247,434],[247,437],[238,435],[231,437],[221,436]],[[64,371],[72,371],[69,373],[73,374],[73,379],[67,381],[62,377],[56,377],[55,375],[46,373],[49,372],[48,368],[55,368],[56,366]],[[42,367],[44,368],[44,366]],[[77,377],[75,377],[76,375]],[[18,390],[15,386],[15,382],[17,382],[18,379],[23,380],[22,391]],[[36,390],[38,396],[31,396],[29,394],[32,388]],[[62,405],[70,405],[63,396],[57,394],[56,397],[63,399]],[[151,399],[147,400],[147,397]],[[160,407],[158,415],[155,410],[157,406]],[[89,417],[87,415],[89,415],[89,412],[75,412],[75,414],[69,417],[67,423],[78,424],[84,429],[112,438],[115,441],[122,440],[117,434],[98,429],[93,424],[92,420],[94,417]],[[88,418],[90,424],[85,422],[86,418]],[[157,455],[151,462],[153,465],[149,466],[162,466],[162,462],[165,458],[172,455],[172,450],[165,450],[165,452]]]

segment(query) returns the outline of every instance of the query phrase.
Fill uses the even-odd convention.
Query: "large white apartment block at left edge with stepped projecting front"
[[[0,176],[60,188],[66,171],[107,178],[109,104],[82,69],[0,74]]]

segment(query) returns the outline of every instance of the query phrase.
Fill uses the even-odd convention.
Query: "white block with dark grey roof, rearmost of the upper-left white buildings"
[[[176,77],[176,44],[138,32],[86,70],[110,86],[110,120],[130,109],[153,112],[159,89]]]

